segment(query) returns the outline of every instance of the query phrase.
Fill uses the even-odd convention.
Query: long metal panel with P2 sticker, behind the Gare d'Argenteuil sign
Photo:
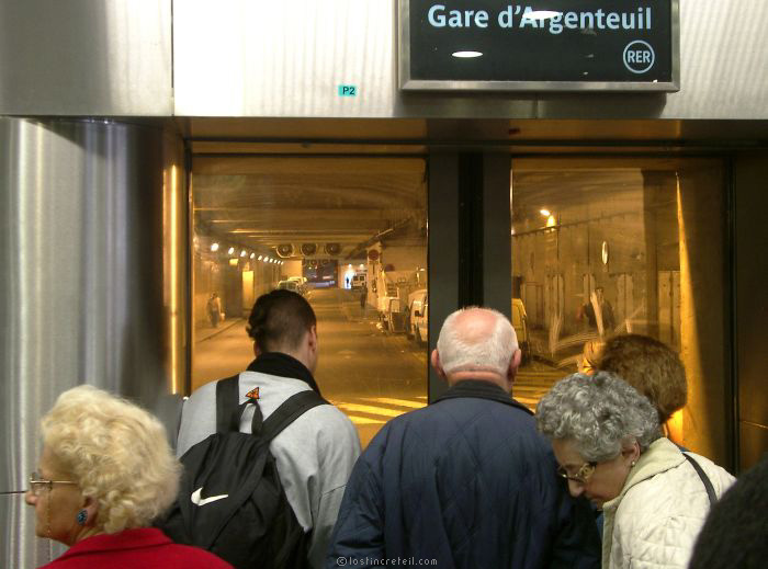
[[[396,2],[184,0],[173,4],[181,116],[768,118],[763,0],[680,0],[680,91],[404,93]],[[204,37],[205,41],[201,42]],[[358,96],[339,96],[354,84]]]

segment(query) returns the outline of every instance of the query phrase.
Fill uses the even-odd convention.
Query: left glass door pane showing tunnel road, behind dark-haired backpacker
[[[316,379],[363,445],[427,402],[425,162],[199,157],[192,168],[192,388],[245,369],[259,295],[304,295]]]

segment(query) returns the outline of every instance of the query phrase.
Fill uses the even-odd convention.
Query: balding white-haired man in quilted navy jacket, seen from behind
[[[573,500],[532,413],[511,398],[520,350],[495,310],[450,315],[431,364],[449,389],[389,421],[357,462],[327,568],[598,568],[589,507]]]

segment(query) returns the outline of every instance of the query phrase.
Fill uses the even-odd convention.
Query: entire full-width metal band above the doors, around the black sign
[[[768,118],[765,0],[680,0],[669,94],[402,93],[397,2],[2,0],[0,114]]]

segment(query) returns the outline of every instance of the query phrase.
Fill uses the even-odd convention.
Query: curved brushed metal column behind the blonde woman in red
[[[104,121],[0,117],[0,566],[27,568],[52,548],[7,492],[26,488],[61,391],[97,385],[174,422],[163,223],[169,200],[183,212],[183,155],[162,128]]]

